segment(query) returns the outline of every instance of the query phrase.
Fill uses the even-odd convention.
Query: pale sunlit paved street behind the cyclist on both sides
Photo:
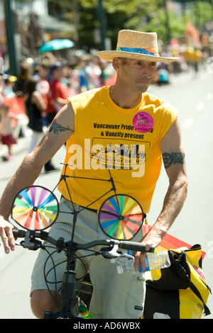
[[[182,140],[186,150],[186,164],[189,180],[187,201],[170,229],[170,235],[189,244],[201,244],[207,252],[203,269],[207,284],[213,288],[213,77],[207,70],[197,77],[192,73],[171,77],[168,86],[151,86],[152,94],[165,98],[180,111]],[[16,159],[11,162],[0,161],[0,194],[7,181],[21,163],[27,152],[28,142],[23,140],[16,148]],[[63,162],[65,147],[55,155],[53,162]],[[45,174],[42,172],[36,184],[53,188],[60,172]],[[168,187],[165,171],[162,169],[155,197],[148,215],[149,224],[153,224],[160,213],[163,198]],[[1,250],[0,250],[1,251]],[[1,253],[1,252],[0,252]],[[29,307],[30,275],[36,252],[18,248],[10,255],[0,258],[0,319],[33,318]],[[208,305],[213,313],[213,296],[209,295]],[[209,315],[207,319],[212,319]]]

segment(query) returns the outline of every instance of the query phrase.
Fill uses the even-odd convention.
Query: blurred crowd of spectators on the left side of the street
[[[99,60],[97,56],[72,56],[69,60],[58,59],[51,52],[39,59],[28,57],[20,62],[20,74],[14,77],[0,75],[0,144],[2,140],[4,106],[7,105],[10,133],[15,140],[8,146],[8,155],[4,161],[13,159],[11,145],[18,137],[30,135],[29,152],[35,147],[43,130],[49,125],[55,114],[65,105],[67,97],[80,94],[105,84],[114,84],[115,73],[111,64]],[[17,103],[11,103],[16,100]],[[40,120],[43,125],[40,127]],[[9,125],[8,125],[9,128]],[[0,145],[1,149],[1,145]],[[45,165],[45,171],[55,167],[51,161]]]

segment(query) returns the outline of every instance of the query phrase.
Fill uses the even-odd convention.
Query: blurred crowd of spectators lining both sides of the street
[[[198,62],[202,61],[204,57],[204,53],[202,54],[200,50],[192,50],[186,45],[180,45],[178,40],[173,41],[169,50],[164,50],[163,47],[163,45],[160,47],[161,54],[170,52],[173,56],[179,57],[179,62],[167,65],[158,63],[153,84],[160,86],[169,84],[171,73],[179,74],[190,68],[196,72]],[[2,107],[10,98],[16,98],[16,101],[23,102],[15,103],[18,105],[18,115],[16,109],[9,110],[15,140],[26,135],[26,132],[30,133],[32,141],[29,151],[31,151],[43,135],[45,126],[51,123],[55,114],[65,105],[67,97],[89,89],[114,84],[115,75],[111,63],[100,60],[99,57],[91,54],[83,53],[80,56],[74,54],[65,60],[55,57],[52,52],[45,52],[39,58],[28,57],[21,60],[18,77],[8,74],[0,75],[0,137]],[[11,103],[7,104],[11,108]],[[42,118],[42,129],[38,130],[39,126],[35,126],[34,118],[38,123],[39,119]],[[0,140],[1,143],[3,143],[2,140]],[[9,159],[11,159],[11,147],[9,155],[4,157],[4,160]],[[53,169],[55,168],[51,161],[45,165],[46,171]]]

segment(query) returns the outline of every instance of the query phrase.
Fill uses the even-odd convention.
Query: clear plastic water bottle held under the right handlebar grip
[[[133,255],[133,251],[129,251],[129,254]],[[170,266],[170,258],[167,251],[163,250],[155,250],[154,253],[147,253],[146,254],[146,269],[145,271],[154,271],[155,269],[165,269],[166,267]],[[121,263],[120,263],[121,264]],[[125,271],[129,273],[134,273],[134,262],[131,259],[127,259],[125,264],[121,264],[117,266],[118,273],[124,273]],[[139,273],[144,272],[141,268],[139,268]]]

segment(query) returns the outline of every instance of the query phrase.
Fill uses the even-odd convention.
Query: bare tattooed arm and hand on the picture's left
[[[74,132],[74,113],[68,103],[55,116],[53,123],[38,142],[33,152],[26,155],[21,166],[13,174],[0,199],[0,237],[4,250],[15,249],[13,225],[9,222],[11,204],[16,194],[26,186],[31,186],[38,178],[43,165],[47,163]]]

